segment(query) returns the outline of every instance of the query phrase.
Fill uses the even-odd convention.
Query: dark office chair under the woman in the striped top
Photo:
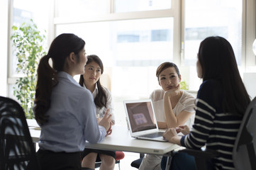
[[[253,137],[256,136],[256,98],[254,98],[245,111],[242,123],[238,130],[238,135],[233,148],[233,162],[235,169],[252,170],[256,169],[256,142]],[[183,149],[184,152],[194,156],[198,170],[207,169],[207,160],[218,156],[218,153],[212,150]]]

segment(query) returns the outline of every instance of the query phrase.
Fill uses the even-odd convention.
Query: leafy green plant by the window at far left
[[[16,79],[13,94],[16,96],[26,118],[34,118],[33,100],[35,98],[36,70],[40,57],[45,55],[45,34],[40,33],[33,20],[21,26],[13,26],[11,40],[13,54],[18,59],[16,71],[21,77]]]

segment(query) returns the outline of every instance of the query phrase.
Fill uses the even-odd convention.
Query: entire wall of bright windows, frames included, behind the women
[[[50,40],[64,32],[82,37],[87,53],[103,60],[114,101],[148,98],[153,89],[160,88],[155,70],[165,61],[178,65],[189,90],[198,90],[196,55],[201,40],[211,35],[227,38],[238,66],[249,65],[255,71],[255,55],[248,55],[255,40],[253,0],[10,1],[11,25],[33,18],[40,29],[48,31]],[[10,56],[9,96],[18,76]]]

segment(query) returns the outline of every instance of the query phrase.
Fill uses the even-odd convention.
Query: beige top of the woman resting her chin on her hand
[[[166,122],[165,121],[165,111],[164,111],[164,94],[165,91],[162,89],[156,89],[152,91],[150,94],[150,99],[152,100],[152,104],[155,111],[155,117],[159,122]],[[183,91],[182,97],[179,99],[177,105],[172,108],[175,115],[178,115],[182,111],[187,111],[190,113],[195,113],[195,98],[193,95],[189,94],[187,91]],[[189,128],[192,127],[194,124],[194,117],[195,114],[191,115],[189,120],[185,123],[188,125]]]

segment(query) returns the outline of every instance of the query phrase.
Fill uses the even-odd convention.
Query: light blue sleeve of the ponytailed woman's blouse
[[[82,125],[84,127],[84,140],[90,143],[101,142],[106,136],[104,127],[99,126],[96,120],[96,106],[92,95],[87,91],[81,101],[80,115],[82,115]]]

